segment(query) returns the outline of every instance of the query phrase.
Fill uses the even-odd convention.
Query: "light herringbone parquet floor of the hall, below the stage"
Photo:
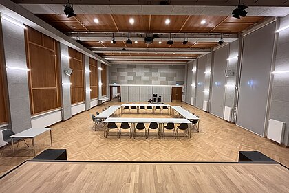
[[[283,148],[269,139],[259,137],[248,130],[239,128],[209,113],[196,109],[189,104],[173,103],[190,109],[200,115],[200,133],[193,132],[191,139],[180,137],[137,137],[129,139],[123,136],[103,137],[102,131],[92,131],[90,115],[105,109],[105,106],[120,104],[109,102],[96,106],[89,111],[75,115],[70,120],[60,122],[52,127],[53,148],[67,149],[69,160],[125,160],[125,161],[237,161],[239,150],[258,150],[275,161],[289,166],[289,148]],[[136,117],[156,117],[151,111]],[[167,115],[162,115],[167,116]],[[14,157],[12,150],[6,148],[0,156],[0,174],[27,159],[32,159],[32,142],[30,148],[23,142],[16,148]],[[50,147],[50,135],[44,133],[35,139],[36,150],[41,152]],[[1,150],[1,149],[0,149]]]

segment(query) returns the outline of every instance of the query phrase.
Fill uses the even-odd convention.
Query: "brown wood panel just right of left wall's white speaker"
[[[83,71],[83,54],[69,47],[69,67],[73,69],[70,76],[71,85],[71,100],[72,104],[83,102],[84,96],[84,71]]]

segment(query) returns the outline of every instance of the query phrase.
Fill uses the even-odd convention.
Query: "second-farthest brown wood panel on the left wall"
[[[98,64],[93,58],[89,58],[89,79],[90,79],[90,98],[98,98]]]

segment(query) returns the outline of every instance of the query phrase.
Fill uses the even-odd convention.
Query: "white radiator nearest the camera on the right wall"
[[[279,122],[277,120],[269,120],[269,126],[268,126],[268,139],[271,139],[273,141],[278,142],[281,144],[283,140],[283,130],[285,128],[284,122]]]

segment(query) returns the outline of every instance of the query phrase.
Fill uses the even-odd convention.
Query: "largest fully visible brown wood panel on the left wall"
[[[32,28],[25,30],[32,115],[61,107],[58,43]]]

